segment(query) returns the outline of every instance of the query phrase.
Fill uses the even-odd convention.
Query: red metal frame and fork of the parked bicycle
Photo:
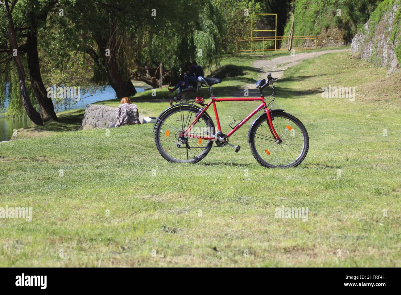
[[[219,129],[219,132],[221,132],[221,126],[220,126],[219,114],[217,113],[216,102],[249,102],[249,101],[252,101],[252,102],[261,101],[262,103],[253,112],[251,112],[251,114],[249,114],[246,118],[241,120],[241,122],[239,122],[233,128],[233,130],[231,130],[227,134],[227,138],[230,137],[231,135],[233,135],[235,131],[237,131],[243,124],[245,124],[257,112],[259,112],[262,109],[265,109],[265,112],[267,114],[266,122],[267,122],[267,125],[269,126],[270,132],[273,135],[273,138],[275,140],[280,140],[280,137],[278,136],[277,132],[275,131],[275,129],[273,127],[273,122],[271,121],[270,111],[267,108],[264,96],[257,97],[257,98],[215,98],[215,97],[211,97],[211,101],[205,106],[205,108],[203,108],[203,110],[198,114],[198,116],[196,116],[196,118],[192,121],[192,123],[188,126],[188,128],[186,128],[186,130],[184,131],[184,134],[182,134],[182,135],[188,136],[188,137],[194,137],[194,138],[202,138],[202,139],[205,139],[205,140],[214,140],[215,139],[214,137],[198,136],[198,135],[188,134],[188,132],[190,132],[192,130],[192,128],[194,127],[196,122],[198,122],[199,118],[201,118],[202,114],[204,112],[206,112],[206,110],[212,104],[213,104],[213,109],[215,110],[217,128]]]

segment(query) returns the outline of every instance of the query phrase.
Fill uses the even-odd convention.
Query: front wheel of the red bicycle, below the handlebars
[[[304,124],[295,116],[273,113],[273,127],[281,140],[272,136],[267,115],[255,122],[249,134],[249,147],[260,165],[269,168],[296,167],[304,161],[309,149],[309,136]]]

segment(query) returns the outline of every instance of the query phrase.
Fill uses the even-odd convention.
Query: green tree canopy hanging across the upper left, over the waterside
[[[16,27],[38,30],[45,87],[79,85],[90,91],[105,86],[109,79],[104,49],[99,48],[102,42],[113,46],[110,50],[123,79],[160,63],[175,75],[192,60],[207,70],[219,64],[223,52],[235,50],[238,37],[249,35],[259,7],[255,0],[19,0],[13,18]],[[0,31],[0,45],[6,48],[4,13]],[[108,43],[111,36],[117,36],[116,44]],[[23,31],[16,37],[18,44],[26,42]]]

